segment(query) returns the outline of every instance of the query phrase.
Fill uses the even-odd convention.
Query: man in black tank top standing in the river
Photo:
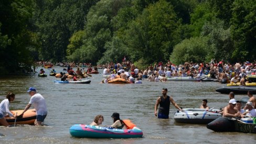
[[[158,97],[156,100],[156,104],[155,104],[155,116],[158,116],[158,118],[164,118],[167,119],[169,118],[169,110],[170,110],[170,102],[172,102],[172,104],[180,111],[182,111],[182,109],[180,109],[180,107],[178,106],[178,104],[175,103],[175,101],[173,100],[172,97],[169,97],[167,95],[167,89],[163,88],[162,90],[162,96]],[[159,111],[158,111],[158,115],[157,115],[157,107],[160,104],[159,107]]]

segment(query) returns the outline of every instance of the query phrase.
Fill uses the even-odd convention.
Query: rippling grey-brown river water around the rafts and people
[[[37,69],[39,71],[41,67]],[[55,67],[59,73],[63,67]],[[76,68],[74,68],[76,70]],[[45,69],[46,74],[50,70]],[[99,69],[102,73],[102,69]],[[154,116],[154,106],[162,88],[168,89],[176,103],[183,108],[199,107],[202,99],[208,100],[210,107],[219,109],[228,104],[227,94],[220,94],[218,82],[149,82],[142,84],[100,83],[101,74],[92,75],[90,84],[54,83],[55,77],[35,75],[1,77],[0,100],[7,92],[16,94],[11,110],[23,110],[30,100],[26,92],[36,87],[47,102],[48,115],[45,124],[36,127],[19,125],[0,126],[0,143],[255,143],[255,134],[215,133],[206,125],[180,124],[174,121],[177,109],[171,104],[170,118],[158,119]],[[236,95],[240,100],[247,95]],[[102,125],[110,126],[113,112],[119,112],[121,119],[131,119],[143,130],[143,138],[132,139],[92,139],[74,138],[69,134],[73,124],[90,124],[95,115],[104,116]]]

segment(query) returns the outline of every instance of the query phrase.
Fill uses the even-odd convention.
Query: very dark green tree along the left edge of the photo
[[[29,48],[35,41],[29,26],[33,15],[33,1],[10,0],[0,3],[0,68],[4,73],[30,70],[33,63]]]

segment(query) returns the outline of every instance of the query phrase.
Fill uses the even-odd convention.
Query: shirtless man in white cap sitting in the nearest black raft
[[[223,117],[242,117],[242,114],[236,108],[236,100],[229,100],[228,106],[223,109]]]

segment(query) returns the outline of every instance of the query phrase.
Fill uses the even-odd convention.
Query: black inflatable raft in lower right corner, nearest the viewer
[[[256,134],[256,124],[244,123],[231,117],[219,117],[207,124],[206,127],[217,132],[237,131],[240,133]]]

